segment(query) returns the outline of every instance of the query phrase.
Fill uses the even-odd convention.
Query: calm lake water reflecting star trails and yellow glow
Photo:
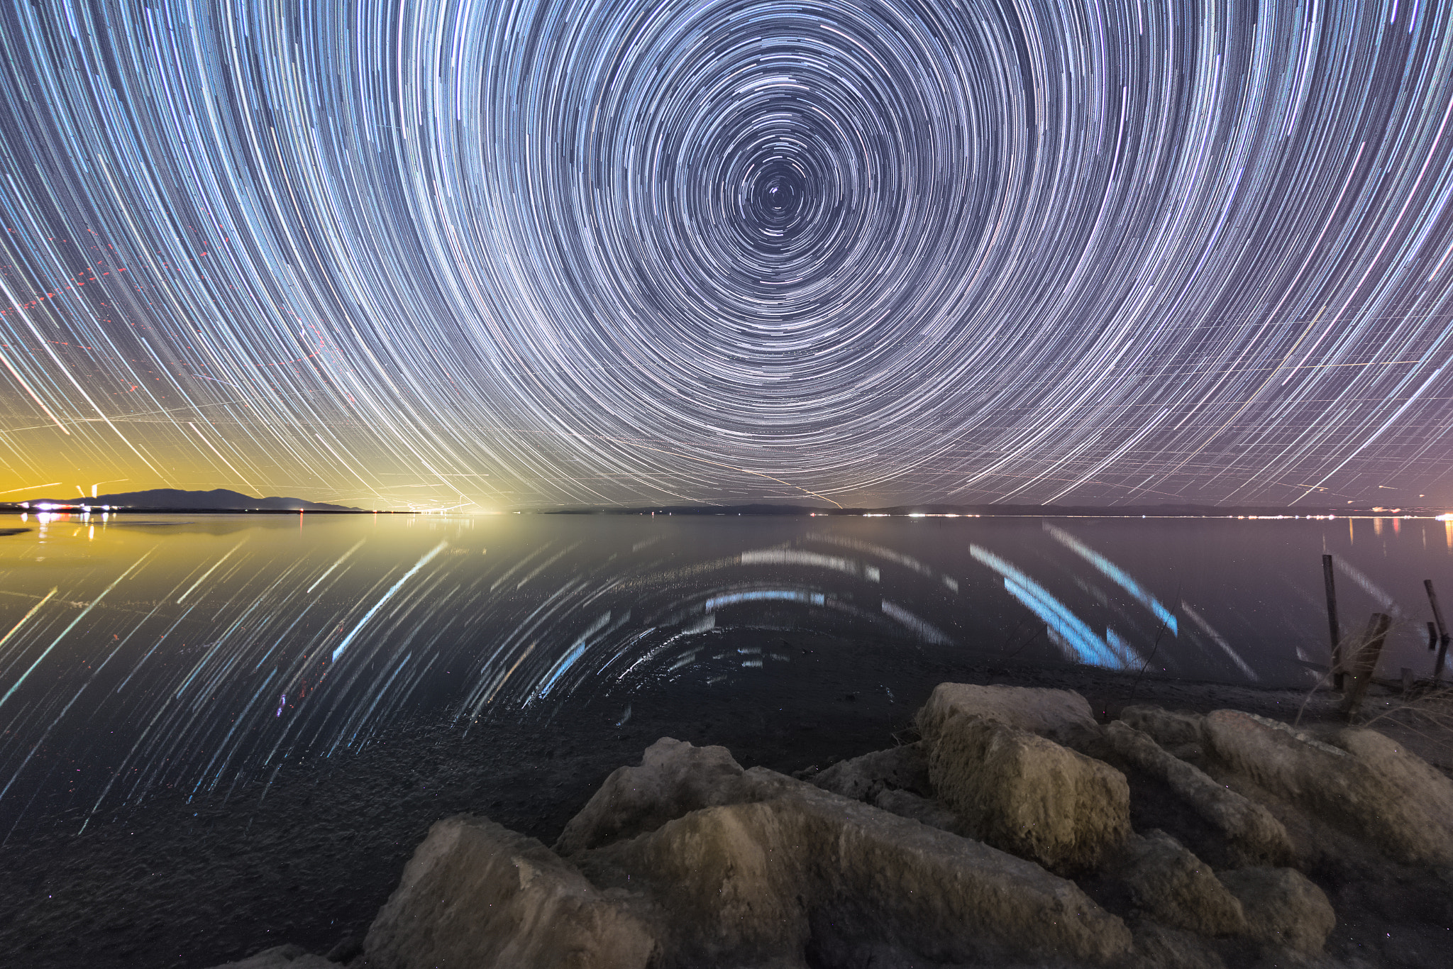
[[[888,655],[1312,686],[1322,552],[1379,676],[1431,673],[1425,519],[0,517],[0,838],[359,751],[400,718],[741,693],[793,631]],[[817,661],[824,661],[817,657]],[[865,690],[879,684],[863,684]],[[883,687],[886,689],[886,687]],[[689,708],[686,708],[689,709]],[[564,719],[562,719],[564,718]],[[597,718],[599,719],[599,718]]]

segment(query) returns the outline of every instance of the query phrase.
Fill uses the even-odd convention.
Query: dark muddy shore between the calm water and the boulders
[[[92,819],[83,835],[77,812],[36,816],[0,848],[0,953],[32,969],[193,969],[285,941],[327,953],[363,936],[439,818],[482,814],[548,844],[612,770],[638,763],[660,737],[721,744],[744,766],[792,773],[892,745],[942,681],[1072,689],[1101,719],[1129,703],[1235,708],[1286,722],[1299,710],[1311,723],[1337,716],[1327,693],[1167,680],[1154,670],[960,664],[902,644],[802,633],[770,645],[793,661],[716,690],[674,683],[551,715],[498,715],[468,732],[420,715],[362,753],[304,758],[270,786],[259,777],[227,799],[163,793]],[[1367,712],[1399,703],[1395,690],[1373,687]],[[1447,735],[1395,718],[1375,726],[1453,774]],[[1444,965],[1453,925],[1408,921],[1396,886],[1385,899],[1322,888],[1338,909],[1329,965]]]

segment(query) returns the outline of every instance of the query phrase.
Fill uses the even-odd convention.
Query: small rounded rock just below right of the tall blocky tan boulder
[[[1126,841],[1119,869],[1135,905],[1158,923],[1202,936],[1247,930],[1241,902],[1210,866],[1158,828]]]

